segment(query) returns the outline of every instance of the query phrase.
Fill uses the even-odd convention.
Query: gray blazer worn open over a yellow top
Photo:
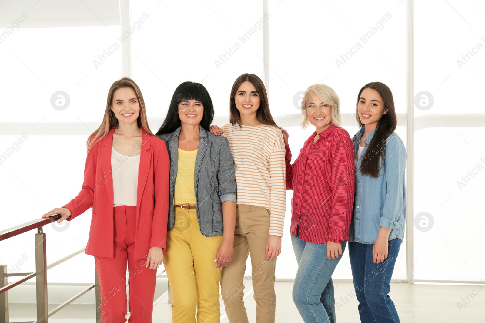
[[[170,156],[170,195],[167,231],[174,227],[174,190],[178,171],[178,127],[171,134],[158,137],[165,141]],[[236,202],[236,175],[234,159],[226,137],[215,136],[200,127],[200,141],[195,158],[194,190],[197,221],[206,237],[224,233],[222,202]]]

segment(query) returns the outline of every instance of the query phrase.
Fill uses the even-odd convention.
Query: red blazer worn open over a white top
[[[111,151],[114,128],[89,151],[84,183],[78,196],[63,207],[72,220],[93,207],[89,240],[85,253],[113,258],[113,172]],[[142,151],[136,197],[135,258],[146,259],[150,247],[165,251],[168,218],[170,159],[165,142],[142,129]]]

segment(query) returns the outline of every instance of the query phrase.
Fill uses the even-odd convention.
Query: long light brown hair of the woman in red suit
[[[148,121],[146,119],[145,101],[143,100],[143,95],[140,91],[140,88],[131,78],[123,77],[117,81],[114,81],[114,83],[111,85],[110,91],[108,91],[108,99],[106,100],[106,110],[104,111],[103,121],[101,122],[101,125],[99,125],[99,128],[97,128],[95,132],[93,132],[91,136],[89,136],[86,142],[88,152],[91,148],[93,148],[97,141],[102,140],[108,135],[111,128],[118,126],[118,119],[116,119],[114,112],[111,110],[111,106],[113,104],[114,92],[118,89],[124,88],[130,88],[135,92],[138,104],[140,105],[140,114],[138,115],[138,119],[136,120],[138,127],[144,129],[150,135],[153,135],[153,133],[150,131],[150,128],[148,127]]]

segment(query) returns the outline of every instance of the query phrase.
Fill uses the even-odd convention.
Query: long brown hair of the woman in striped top
[[[254,74],[242,74],[240,77],[236,78],[234,81],[234,84],[232,85],[231,89],[231,97],[229,99],[229,111],[230,111],[230,119],[229,122],[234,124],[239,124],[240,127],[242,127],[241,124],[241,114],[239,113],[239,110],[236,108],[236,92],[238,92],[239,87],[241,86],[242,83],[244,82],[251,82],[253,84],[254,88],[256,91],[258,91],[259,94],[259,108],[256,111],[256,119],[263,124],[268,124],[268,125],[274,125],[275,127],[277,126],[275,123],[275,120],[273,120],[273,117],[271,116],[270,112],[270,106],[268,103],[268,94],[266,93],[266,88],[264,87],[263,81]]]

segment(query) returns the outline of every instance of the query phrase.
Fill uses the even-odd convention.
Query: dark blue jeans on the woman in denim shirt
[[[389,297],[389,283],[396,263],[401,239],[389,241],[388,258],[374,263],[372,247],[349,242],[349,257],[354,277],[361,323],[399,323],[396,307]]]

